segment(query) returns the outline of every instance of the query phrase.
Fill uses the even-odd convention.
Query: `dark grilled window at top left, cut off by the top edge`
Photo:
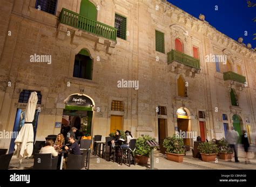
[[[37,0],[35,8],[55,15],[58,0]]]

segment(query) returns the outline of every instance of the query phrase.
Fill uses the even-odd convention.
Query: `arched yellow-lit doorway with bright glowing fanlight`
[[[190,138],[187,137],[189,132],[191,131],[190,119],[188,118],[188,112],[184,107],[180,107],[177,110],[177,126],[178,133],[181,138],[183,138],[183,142],[185,146],[190,146]],[[185,134],[185,135],[184,135]]]

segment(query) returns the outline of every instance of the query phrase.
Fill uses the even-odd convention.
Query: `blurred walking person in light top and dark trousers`
[[[228,130],[226,139],[227,139],[228,145],[234,151],[235,162],[239,162],[239,160],[238,160],[238,148],[237,148],[237,142],[238,142],[238,139],[239,139],[239,134],[238,134],[237,131],[234,130],[234,127],[231,127],[231,130]]]

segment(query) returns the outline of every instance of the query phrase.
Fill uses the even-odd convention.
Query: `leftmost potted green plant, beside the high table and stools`
[[[149,135],[142,135],[136,140],[136,149],[135,149],[135,155],[136,155],[136,162],[142,165],[147,164],[147,161],[149,160],[149,155],[151,148],[147,144],[147,140],[156,140],[152,138]]]

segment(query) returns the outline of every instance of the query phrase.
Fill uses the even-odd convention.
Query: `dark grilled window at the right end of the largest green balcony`
[[[117,37],[126,40],[126,18],[116,14],[114,27],[117,28]]]

